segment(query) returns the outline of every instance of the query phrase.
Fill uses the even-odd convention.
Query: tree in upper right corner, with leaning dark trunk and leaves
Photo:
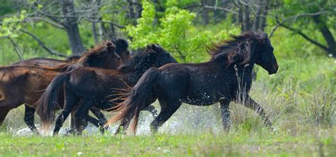
[[[332,35],[332,32],[335,32],[335,8],[335,1],[284,1],[279,11],[275,12],[280,16],[274,18],[276,26],[273,32],[279,27],[286,28],[336,57],[336,42]],[[316,30],[323,40],[315,37]]]

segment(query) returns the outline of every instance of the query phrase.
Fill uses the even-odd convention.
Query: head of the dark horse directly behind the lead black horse
[[[150,62],[152,62],[152,66],[155,67],[169,63],[177,63],[177,60],[159,45],[147,45],[145,53],[151,59]]]

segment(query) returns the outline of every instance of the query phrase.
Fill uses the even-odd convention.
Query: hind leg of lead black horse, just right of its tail
[[[176,112],[177,109],[179,109],[179,107],[182,104],[181,101],[179,100],[167,101],[166,103],[165,101],[162,101],[160,99],[159,103],[161,106],[161,111],[159,112],[159,115],[157,115],[157,117],[155,117],[153,122],[150,124],[150,131],[153,133],[156,133],[159,127],[161,127],[162,124],[164,124],[164,122],[166,122],[170,117],[172,117],[174,112]]]

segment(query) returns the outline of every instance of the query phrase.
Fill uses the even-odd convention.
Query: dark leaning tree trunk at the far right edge
[[[333,57],[336,57],[336,42],[329,28],[327,28],[327,25],[325,25],[324,21],[320,20],[320,16],[313,16],[312,18],[317,25],[320,25],[319,30],[327,42],[327,52],[332,54]]]

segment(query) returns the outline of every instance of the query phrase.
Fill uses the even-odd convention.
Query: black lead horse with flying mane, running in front
[[[278,70],[271,42],[265,33],[245,33],[232,37],[233,40],[209,50],[212,56],[209,62],[167,64],[159,69],[149,69],[125,94],[125,101],[114,107],[121,112],[108,123],[121,120],[121,125],[128,127],[134,117],[131,129],[135,132],[140,110],[159,99],[161,111],[150,124],[152,132],[157,132],[181,103],[212,105],[219,102],[223,127],[228,128],[229,104],[237,101],[258,112],[264,118],[264,123],[271,126],[263,108],[248,95],[254,64],[262,66],[269,74],[275,74]]]

